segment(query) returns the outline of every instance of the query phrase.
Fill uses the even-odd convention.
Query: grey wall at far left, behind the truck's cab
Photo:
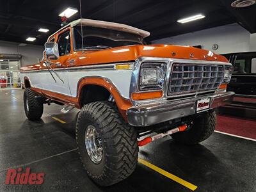
[[[43,46],[26,45],[19,46],[20,43],[0,41],[0,54],[21,54],[21,66],[38,63],[38,59],[42,59]]]

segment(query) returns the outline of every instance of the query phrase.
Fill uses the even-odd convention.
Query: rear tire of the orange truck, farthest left
[[[26,88],[23,99],[24,110],[28,119],[31,121],[39,120],[44,112],[42,97],[36,97],[35,92],[31,88]]]

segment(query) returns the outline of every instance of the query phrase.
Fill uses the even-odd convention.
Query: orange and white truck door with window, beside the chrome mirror
[[[51,68],[58,74],[59,77],[52,70],[50,73],[49,70],[47,70],[45,63],[43,63],[44,67],[42,67],[42,70],[44,70],[44,72],[41,72],[44,74],[42,77],[42,92],[45,95],[49,94],[47,91],[60,93],[63,95],[70,95],[67,70],[65,69],[67,67],[68,55],[70,54],[69,28],[65,29],[63,33],[56,35],[56,38],[57,39],[54,39],[54,42],[58,43],[60,58],[58,58],[58,60],[51,61]]]

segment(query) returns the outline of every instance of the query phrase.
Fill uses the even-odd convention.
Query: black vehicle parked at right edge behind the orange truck
[[[239,115],[256,120],[256,52],[223,54],[233,65],[228,91],[236,95],[232,104],[220,108],[220,113]]]

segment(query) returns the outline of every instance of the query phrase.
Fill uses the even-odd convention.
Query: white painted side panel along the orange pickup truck
[[[31,86],[35,88],[41,88],[51,92],[61,93],[71,97],[77,97],[77,87],[79,81],[86,77],[102,77],[112,83],[118,90],[120,95],[125,99],[129,99],[130,83],[132,70],[56,70],[58,75],[64,81],[64,83],[52,72],[52,76],[56,79],[56,82],[52,78],[50,72],[22,72],[20,73],[20,79],[24,83],[24,77],[28,77]]]

